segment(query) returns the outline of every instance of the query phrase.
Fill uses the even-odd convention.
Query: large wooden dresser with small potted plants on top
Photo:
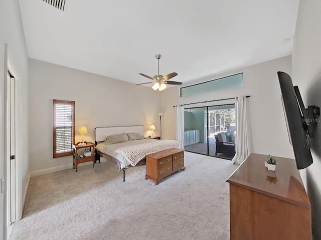
[[[252,153],[227,180],[231,240],[312,239],[311,205],[295,160],[276,159],[269,171],[265,155]]]

